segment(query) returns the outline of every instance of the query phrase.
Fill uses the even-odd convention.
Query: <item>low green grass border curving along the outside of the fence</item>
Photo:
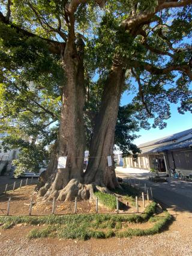
[[[156,203],[149,204],[141,215],[63,215],[63,216],[1,216],[2,228],[11,228],[20,223],[38,225],[38,228],[31,230],[29,239],[38,237],[59,237],[63,239],[109,238],[113,236],[145,236],[155,234],[163,230],[170,222],[172,216],[168,212],[161,216],[154,216]],[[131,229],[126,224],[154,222],[152,228],[146,230]],[[41,227],[43,225],[43,227]],[[124,229],[122,229],[124,226]],[[126,228],[125,228],[126,227]]]

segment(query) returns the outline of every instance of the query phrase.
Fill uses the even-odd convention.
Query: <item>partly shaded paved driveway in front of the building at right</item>
[[[136,183],[152,187],[153,196],[157,201],[164,203],[167,208],[176,212],[192,213],[192,182],[167,178],[167,183],[154,183],[148,180],[149,171],[134,168],[117,168],[116,174],[128,178]]]

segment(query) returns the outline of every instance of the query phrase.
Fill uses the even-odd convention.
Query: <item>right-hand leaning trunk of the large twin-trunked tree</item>
[[[86,183],[108,188],[119,186],[114,166],[107,166],[107,156],[113,156],[116,118],[124,82],[125,70],[120,64],[113,64],[104,87],[100,112],[95,118]]]

